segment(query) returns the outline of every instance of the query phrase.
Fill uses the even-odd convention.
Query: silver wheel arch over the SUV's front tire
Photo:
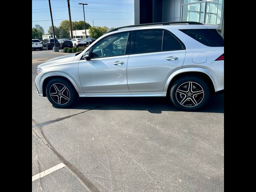
[[[53,79],[53,78],[62,78],[68,82],[70,82],[72,84],[72,86],[75,88],[77,93],[81,93],[80,89],[78,88],[76,82],[67,74],[61,74],[61,73],[57,73],[57,74],[48,74],[46,75],[43,79],[42,79],[42,92],[43,92],[43,96],[46,97],[46,85],[47,83]]]

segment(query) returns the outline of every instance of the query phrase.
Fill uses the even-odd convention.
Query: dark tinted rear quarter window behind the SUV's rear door
[[[180,31],[206,46],[224,46],[224,39],[216,29],[180,29]]]

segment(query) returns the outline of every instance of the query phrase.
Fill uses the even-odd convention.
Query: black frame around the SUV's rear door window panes
[[[150,52],[143,52],[143,53],[134,53],[134,39],[135,39],[135,32],[136,31],[146,31],[146,30],[162,30],[162,48],[160,51],[150,51]],[[170,33],[182,46],[182,49],[175,49],[175,50],[163,50],[163,40],[164,40],[164,33],[168,32]],[[132,41],[131,41],[131,45],[130,45],[130,55],[134,55],[134,54],[144,54],[144,53],[156,53],[156,52],[165,52],[165,51],[179,51],[179,50],[186,50],[186,46],[185,44],[176,36],[174,35],[172,32],[170,32],[169,30],[163,29],[163,28],[155,28],[155,29],[138,29],[138,30],[132,30]]]

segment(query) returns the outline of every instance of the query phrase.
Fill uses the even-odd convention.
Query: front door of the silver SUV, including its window
[[[79,78],[84,93],[129,92],[127,86],[128,54],[126,44],[117,46],[120,39],[128,39],[128,32],[107,36],[96,43],[90,52],[91,60],[80,60]]]

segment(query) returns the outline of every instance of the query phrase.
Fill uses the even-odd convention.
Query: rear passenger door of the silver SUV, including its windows
[[[184,44],[167,30],[133,31],[127,65],[130,92],[163,91],[170,74],[182,68],[185,54]]]

